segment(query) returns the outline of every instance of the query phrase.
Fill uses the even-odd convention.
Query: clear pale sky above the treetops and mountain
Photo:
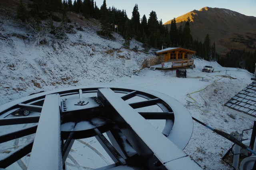
[[[98,8],[100,8],[103,0],[95,1]],[[130,19],[135,4],[138,4],[140,18],[145,14],[148,19],[150,12],[155,11],[158,20],[162,19],[163,23],[206,6],[225,8],[246,16],[256,17],[256,0],[106,0],[106,4],[107,7],[114,6],[119,10],[126,10]]]

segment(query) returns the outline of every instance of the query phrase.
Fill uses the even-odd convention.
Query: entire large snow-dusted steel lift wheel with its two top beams
[[[130,102],[133,99],[135,102]],[[157,107],[158,111],[138,111],[146,107]],[[19,109],[36,111],[40,116],[8,117]],[[146,119],[166,120],[162,133]],[[35,134],[33,140],[1,158],[0,168],[7,168],[30,152],[28,169],[65,168],[74,140],[95,136],[114,161],[98,169],[201,169],[182,151],[193,130],[189,111],[156,91],[78,87],[30,95],[0,107],[1,126],[28,123],[38,124],[14,132],[7,130],[0,136],[0,143],[8,143]]]

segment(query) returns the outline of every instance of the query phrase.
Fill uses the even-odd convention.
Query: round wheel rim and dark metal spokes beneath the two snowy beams
[[[60,108],[61,123],[65,122],[66,119],[70,117],[72,117],[72,119],[76,119],[76,121],[79,122],[84,119],[89,119],[88,117],[91,117],[92,115],[94,117],[106,119],[106,123],[104,125],[96,128],[79,131],[61,132],[61,151],[63,168],[65,168],[65,160],[68,156],[68,153],[70,152],[74,140],[78,138],[95,136],[115,162],[114,165],[102,167],[103,169],[108,169],[108,167],[113,168],[120,165],[129,165],[136,168],[147,169],[168,169],[168,165],[171,164],[170,162],[172,160],[164,162],[164,158],[161,158],[161,156],[159,156],[158,158],[158,156],[154,155],[155,152],[157,152],[157,150],[150,148],[151,146],[148,146],[148,143],[145,142],[144,139],[142,140],[139,134],[137,134],[132,127],[127,128],[130,126],[130,123],[123,120],[122,114],[119,113],[120,111],[117,111],[113,108],[113,105],[110,104],[109,101],[110,97],[108,95],[102,95],[101,89],[102,87],[84,87],[43,92],[25,97],[23,99],[19,99],[17,101],[13,101],[11,103],[7,103],[6,105],[0,106],[0,126],[37,123],[40,120],[40,117],[38,116],[18,118],[8,118],[7,116],[10,115],[13,111],[16,111],[17,109],[27,109],[30,111],[33,110],[41,112],[46,95],[58,94],[62,99],[68,97],[69,95],[78,95],[79,98],[82,99],[83,94],[98,93],[98,95],[95,96],[98,100],[97,103],[100,103],[98,107],[89,108],[86,111],[73,111],[69,113],[64,113],[63,108]],[[189,112],[178,101],[162,93],[144,89],[124,89],[119,87],[111,87],[107,91],[111,91],[111,93],[124,94],[120,97],[120,100],[123,100],[124,103],[126,100],[131,99],[133,97],[142,97],[145,99],[145,101],[141,102],[128,103],[128,107],[131,107],[132,109],[148,107],[153,105],[160,107],[162,109],[162,112],[140,112],[139,114],[144,119],[166,120],[164,135],[167,136],[167,138],[165,138],[168,139],[168,141],[173,141],[174,144],[178,145],[179,150],[181,151],[180,154],[183,155],[181,156],[181,158],[187,157],[187,155],[184,154],[182,150],[184,149],[192,135],[193,123],[192,117],[190,116]],[[136,111],[134,112],[136,113]],[[83,116],[74,118],[75,113],[83,113]],[[120,119],[122,119],[121,122]],[[170,127],[170,123],[168,123],[170,121],[174,122],[174,125],[172,127]],[[182,121],[185,123],[185,125],[179,125],[176,123],[180,123]],[[36,133],[36,128],[37,126],[22,128],[20,130],[17,130],[16,132],[10,132],[8,134],[2,135],[0,136],[0,143],[7,142],[16,138],[22,138],[23,136]],[[167,130],[166,132],[166,129],[169,130]],[[181,131],[179,132],[179,130]],[[104,132],[108,134],[108,137],[110,138],[112,144],[106,138],[104,138],[104,135],[102,134]],[[184,134],[183,132],[186,133]],[[120,134],[122,134],[122,136],[120,136]],[[134,147],[134,150],[137,152],[137,154],[133,156],[128,156],[128,154],[125,151],[123,142],[121,140],[121,138],[124,136],[129,142],[133,143],[132,146]],[[154,138],[154,136],[152,136],[152,138]],[[184,139],[184,141],[180,141],[181,139]],[[11,153],[10,156],[0,160],[0,168],[6,168],[13,164],[14,162],[16,162],[17,160],[19,160],[20,158],[22,158],[23,156],[25,156],[26,154],[30,153],[32,150],[33,142],[34,141],[31,141],[29,144],[21,146],[17,150],[13,150],[13,153]],[[136,142],[138,142],[138,144],[136,144]],[[141,148],[139,146],[143,147]],[[167,149],[177,150],[175,145],[172,146],[174,148],[170,148],[169,146],[166,147]],[[194,164],[193,161],[192,164]]]

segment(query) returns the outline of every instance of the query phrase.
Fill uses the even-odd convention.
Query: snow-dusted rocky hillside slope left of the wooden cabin
[[[35,45],[35,34],[12,21],[2,20],[0,39],[0,88],[3,95],[26,94],[77,85],[110,82],[118,77],[139,72],[144,59],[153,53],[144,53],[141,43],[132,41],[130,48],[122,46],[122,36],[116,41],[100,38],[94,28],[68,34],[67,41]],[[130,67],[125,61],[131,59]],[[29,89],[29,93],[28,93]],[[12,100],[13,97],[10,97]],[[0,103],[5,103],[0,98]]]

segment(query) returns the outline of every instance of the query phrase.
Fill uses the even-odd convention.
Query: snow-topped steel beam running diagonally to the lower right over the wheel
[[[116,124],[138,154],[149,161],[147,162],[148,168],[154,167],[154,164],[157,163],[154,162],[156,158],[165,166],[165,164],[170,164],[174,160],[177,161],[187,157],[185,152],[154,128],[138,112],[134,111],[128,103],[123,101],[110,88],[98,89],[98,98],[103,101],[105,107],[111,105],[120,115],[115,118],[117,119]],[[165,168],[189,169],[191,166],[197,166],[196,169],[200,169],[191,159],[186,159],[186,166],[184,164],[175,164],[173,167],[165,166]]]

